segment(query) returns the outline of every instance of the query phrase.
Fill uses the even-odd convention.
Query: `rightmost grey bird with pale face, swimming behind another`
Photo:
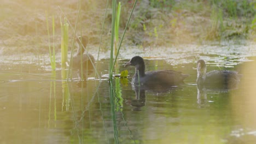
[[[197,61],[197,86],[206,88],[232,89],[237,87],[241,75],[234,70],[213,70],[206,73],[205,61]]]

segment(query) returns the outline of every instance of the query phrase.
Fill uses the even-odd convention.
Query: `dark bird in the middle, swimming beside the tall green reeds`
[[[140,82],[142,85],[177,86],[183,83],[183,80],[189,76],[174,70],[156,70],[145,73],[144,60],[139,56],[133,57],[125,64],[125,67],[129,65],[135,66],[136,72],[132,77],[132,83],[136,84]]]

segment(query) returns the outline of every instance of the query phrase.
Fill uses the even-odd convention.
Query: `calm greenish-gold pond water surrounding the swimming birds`
[[[37,63],[36,58],[26,56],[28,63],[2,58],[0,142],[255,143],[255,50],[234,49],[223,53],[210,48],[190,53],[176,50],[170,54],[174,58],[166,56],[168,51],[162,57],[137,52],[146,57],[146,71],[173,69],[190,74],[182,86],[146,91],[129,82],[134,67],[124,68],[124,64],[130,55],[121,54],[117,66],[130,76],[115,78],[113,87],[103,77],[108,74],[104,57],[97,62],[102,80],[90,74],[84,83],[76,78],[62,81],[60,70],[50,71],[49,63]],[[207,61],[207,71],[243,74],[238,88],[199,92],[195,82],[199,58]]]

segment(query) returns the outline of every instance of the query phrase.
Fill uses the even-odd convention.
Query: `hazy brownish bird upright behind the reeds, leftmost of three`
[[[95,63],[94,56],[92,56],[90,53],[84,53],[85,47],[88,44],[88,37],[78,37],[75,39],[77,43],[77,53],[73,56],[73,69],[78,70],[78,76],[81,77],[81,65],[83,65],[83,75],[84,77],[93,71],[93,65]],[[81,53],[82,53],[82,61],[81,61]],[[82,64],[81,64],[82,62]]]

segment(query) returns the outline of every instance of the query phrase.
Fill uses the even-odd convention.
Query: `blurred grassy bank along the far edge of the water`
[[[119,2],[119,1],[118,1]],[[122,4],[119,34],[123,33],[133,0]],[[89,47],[101,51],[110,50],[112,3],[106,1],[4,1],[0,8],[0,51],[4,55],[15,53],[49,53],[50,45],[61,51],[61,22],[66,17],[75,26],[78,7],[81,4],[81,21],[77,35],[89,37]],[[62,13],[63,11],[63,13]],[[127,27],[123,46],[145,47],[171,46],[179,44],[207,44],[211,41],[256,41],[256,2],[239,0],[140,0],[133,11]],[[48,16],[45,16],[45,13]],[[55,35],[48,35],[49,23],[55,19]],[[49,25],[50,33],[53,27]],[[74,31],[69,31],[73,35]],[[53,38],[54,37],[54,38]],[[53,40],[54,39],[54,40]],[[72,39],[70,39],[69,44]],[[69,50],[71,51],[71,46]]]

